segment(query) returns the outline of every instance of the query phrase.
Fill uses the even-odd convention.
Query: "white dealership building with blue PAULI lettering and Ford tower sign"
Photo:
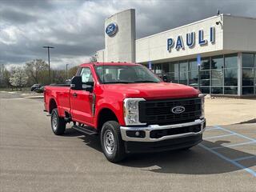
[[[204,94],[255,95],[256,18],[218,14],[136,39],[135,10],[124,10],[106,18],[105,49],[97,57],[141,63]]]

